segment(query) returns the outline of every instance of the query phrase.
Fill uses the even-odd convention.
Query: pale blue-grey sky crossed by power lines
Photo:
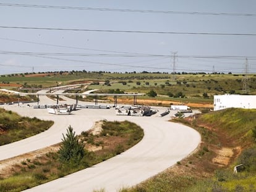
[[[0,74],[244,73],[246,63],[256,73],[255,8],[254,0],[0,0]]]

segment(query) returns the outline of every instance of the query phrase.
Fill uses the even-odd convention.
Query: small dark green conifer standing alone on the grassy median
[[[58,151],[59,160],[62,163],[78,164],[85,155],[83,144],[79,143],[79,139],[70,125],[67,128],[66,136],[64,134],[62,136],[61,148]]]

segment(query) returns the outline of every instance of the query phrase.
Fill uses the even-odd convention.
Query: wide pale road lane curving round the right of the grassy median
[[[143,127],[145,136],[140,143],[108,161],[28,191],[117,191],[171,167],[200,143],[197,131],[184,125],[157,117],[126,119]]]

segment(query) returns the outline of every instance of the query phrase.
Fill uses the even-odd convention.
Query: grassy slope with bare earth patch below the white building
[[[226,109],[177,120],[201,134],[198,151],[163,173],[121,191],[256,191],[255,117],[255,109]],[[238,164],[243,164],[242,170],[233,173]]]

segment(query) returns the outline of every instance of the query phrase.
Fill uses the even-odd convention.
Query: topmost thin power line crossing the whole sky
[[[96,10],[96,11],[108,11],[108,12],[137,12],[147,14],[188,14],[188,15],[216,15],[216,16],[239,16],[239,17],[255,17],[256,14],[244,14],[244,13],[225,13],[225,12],[186,12],[186,11],[174,11],[174,10],[143,10],[143,9],[114,9],[114,8],[100,8],[100,7],[72,7],[72,6],[45,6],[35,4],[7,4],[0,3],[0,6],[9,7],[27,7],[27,8],[43,8],[43,9],[71,9],[71,10]]]

